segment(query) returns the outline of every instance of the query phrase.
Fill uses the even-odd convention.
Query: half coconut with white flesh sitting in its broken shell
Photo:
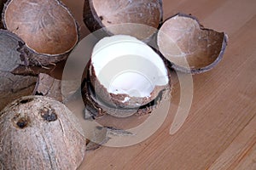
[[[149,108],[170,88],[160,56],[144,42],[125,35],[105,37],[96,43],[87,80],[90,82],[83,86],[84,100],[91,103],[87,105],[115,116],[131,116],[140,108]]]

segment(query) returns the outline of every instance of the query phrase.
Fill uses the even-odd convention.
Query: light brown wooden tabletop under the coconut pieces
[[[81,25],[82,0],[64,1]],[[163,0],[164,16],[195,15],[229,36],[224,59],[196,75],[189,117],[169,134],[179,101],[174,77],[172,105],[160,129],[140,144],[87,152],[79,169],[256,169],[256,1]]]

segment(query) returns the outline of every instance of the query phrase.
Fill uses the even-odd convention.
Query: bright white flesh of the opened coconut
[[[97,79],[108,93],[149,97],[156,86],[168,83],[163,60],[135,37],[102,38],[93,49],[91,63]]]

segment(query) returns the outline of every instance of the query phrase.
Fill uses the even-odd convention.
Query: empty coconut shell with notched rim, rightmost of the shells
[[[176,14],[165,20],[157,35],[160,53],[177,71],[197,74],[211,70],[223,58],[224,32],[201,26],[192,15]]]

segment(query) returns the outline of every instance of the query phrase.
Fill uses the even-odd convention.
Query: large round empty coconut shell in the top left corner
[[[9,0],[3,25],[24,41],[19,51],[29,65],[54,65],[79,42],[79,27],[59,0]]]

